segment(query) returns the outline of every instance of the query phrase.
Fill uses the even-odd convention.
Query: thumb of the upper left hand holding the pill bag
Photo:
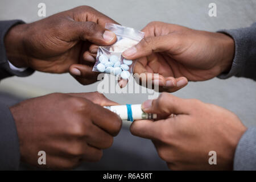
[[[109,46],[117,40],[114,32],[94,22],[75,22],[71,28],[72,40],[88,40],[98,46]]]

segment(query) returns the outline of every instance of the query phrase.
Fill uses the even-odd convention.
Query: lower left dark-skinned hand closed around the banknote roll
[[[23,162],[51,169],[70,169],[101,159],[119,133],[122,121],[102,106],[116,105],[99,93],[54,93],[10,107]],[[46,152],[46,165],[38,152]]]

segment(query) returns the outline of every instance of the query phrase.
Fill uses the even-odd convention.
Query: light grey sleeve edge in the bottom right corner
[[[256,170],[256,127],[242,135],[234,156],[234,170]]]

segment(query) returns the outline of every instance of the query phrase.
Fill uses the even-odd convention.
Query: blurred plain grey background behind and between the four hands
[[[159,20],[180,24],[199,30],[217,31],[222,28],[250,26],[256,21],[255,0],[112,0],[112,1],[0,1],[0,19],[22,19],[25,22],[39,20],[38,3],[47,6],[47,16],[80,5],[89,5],[110,16],[117,22],[141,30],[148,22]],[[208,5],[217,4],[217,17],[209,17]],[[22,98],[41,96],[52,92],[93,92],[97,84],[82,86],[68,74],[52,75],[36,72],[25,78],[11,77],[1,81],[0,91]],[[228,80],[214,78],[204,82],[189,84],[173,93],[181,98],[197,98],[201,101],[225,107],[236,113],[247,127],[256,126],[256,83],[246,78],[232,77]],[[147,94],[105,94],[120,104],[138,104],[147,100]],[[123,97],[125,96],[125,97]],[[86,164],[83,168],[99,169],[165,169],[154,147],[148,140],[129,134],[127,125],[115,138],[113,149],[106,150],[102,162]],[[115,150],[115,151],[114,151]],[[115,154],[115,158],[112,157]],[[112,160],[113,159],[113,160]],[[116,160],[117,159],[117,160]],[[141,163],[141,167],[136,165]],[[133,163],[134,162],[134,163]],[[119,164],[122,165],[119,165]],[[90,166],[92,165],[92,166]],[[120,167],[121,166],[121,167]]]

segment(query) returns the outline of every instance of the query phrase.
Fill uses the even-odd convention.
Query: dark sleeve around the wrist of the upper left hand
[[[34,70],[31,68],[26,69],[23,72],[14,71],[10,68],[9,63],[7,62],[6,50],[5,50],[5,35],[9,29],[16,24],[24,23],[21,20],[8,20],[0,21],[0,80],[10,76],[29,76]]]

